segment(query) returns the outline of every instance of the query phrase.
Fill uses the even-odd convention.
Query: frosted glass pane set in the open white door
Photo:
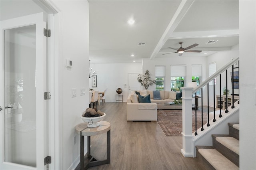
[[[36,25],[4,30],[5,162],[36,167]]]

